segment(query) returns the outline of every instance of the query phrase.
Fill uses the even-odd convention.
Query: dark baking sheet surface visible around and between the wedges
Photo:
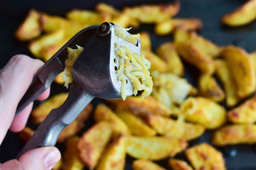
[[[0,1],[0,69],[8,62],[15,54],[26,54],[32,56],[27,50],[27,43],[21,43],[15,40],[13,33],[18,25],[22,22],[27,12],[31,8],[46,12],[48,14],[64,16],[65,13],[73,8],[93,9],[97,2],[102,0],[86,1],[86,0],[45,0],[45,1]],[[121,9],[123,6],[140,5],[142,3],[167,3],[169,0],[108,0],[105,1],[108,4],[113,5],[116,8]],[[244,1],[242,0],[182,0],[181,11],[177,17],[199,17],[204,23],[204,28],[200,34],[206,38],[209,38],[218,45],[235,44],[245,48],[248,52],[256,50],[256,22],[252,22],[247,26],[230,28],[220,24],[220,17],[240,6]],[[151,41],[153,50],[155,50],[160,44],[166,41],[171,41],[170,35],[158,37],[154,34],[153,25],[142,24],[140,28],[133,30],[137,31],[149,31],[151,34]],[[185,63],[186,64],[186,63]],[[187,66],[185,77],[193,85],[197,84],[198,72],[194,68]],[[57,84],[52,84],[50,95],[57,94],[62,91],[67,91],[65,87]],[[94,106],[102,102],[101,99],[94,99]],[[35,102],[35,106],[39,102]],[[4,114],[4,113],[1,113]],[[86,128],[93,124],[93,120],[89,119],[86,122]],[[28,123],[29,126],[36,128],[36,126]],[[84,132],[85,129],[82,130]],[[80,134],[82,134],[80,132]],[[199,139],[190,142],[190,145],[194,145],[201,142],[210,142],[211,131],[206,132]],[[0,163],[15,158],[18,152],[23,147],[23,143],[18,139],[16,134],[8,132],[4,141],[0,146]],[[57,144],[60,150],[64,150],[63,144]],[[256,145],[238,145],[238,146],[226,146],[217,147],[222,151],[228,170],[255,170],[256,169]],[[184,158],[184,155],[179,154],[177,158]],[[126,170],[130,170],[131,162],[133,158],[127,156]],[[167,167],[167,160],[157,162],[164,167]]]

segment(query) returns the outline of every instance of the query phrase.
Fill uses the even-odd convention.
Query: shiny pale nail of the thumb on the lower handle
[[[60,154],[59,151],[55,149],[50,149],[45,154],[45,157],[43,158],[43,162],[45,163],[45,167],[48,169],[52,167],[54,164],[56,164],[60,160]]]

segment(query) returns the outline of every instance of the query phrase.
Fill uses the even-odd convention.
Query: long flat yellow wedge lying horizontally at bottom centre
[[[127,137],[127,153],[139,159],[161,160],[174,156],[187,147],[183,139],[165,137]]]

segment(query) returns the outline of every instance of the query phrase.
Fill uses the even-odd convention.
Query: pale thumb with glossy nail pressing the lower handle
[[[3,163],[0,170],[50,170],[60,157],[60,151],[55,147],[36,148],[27,151],[19,160]]]

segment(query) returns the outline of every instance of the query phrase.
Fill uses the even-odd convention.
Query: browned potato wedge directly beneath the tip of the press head
[[[141,96],[128,97],[125,101],[116,104],[116,112],[129,111],[135,115],[145,117],[149,114],[169,116],[171,110],[154,97],[147,97],[141,100]]]

